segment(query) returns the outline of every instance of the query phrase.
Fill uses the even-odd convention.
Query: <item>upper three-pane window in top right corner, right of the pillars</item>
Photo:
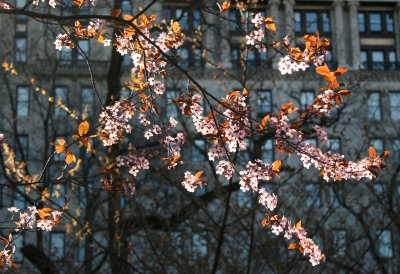
[[[385,35],[394,30],[393,12],[361,11],[358,13],[358,30],[362,35]]]

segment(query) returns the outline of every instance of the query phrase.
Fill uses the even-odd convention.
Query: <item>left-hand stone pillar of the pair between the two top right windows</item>
[[[334,15],[335,15],[335,40],[334,47],[336,47],[336,61],[339,67],[346,66],[346,41],[343,39],[344,35],[344,14],[343,14],[343,0],[335,0],[333,2]]]

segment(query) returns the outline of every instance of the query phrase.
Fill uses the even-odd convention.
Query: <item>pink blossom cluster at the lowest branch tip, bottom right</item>
[[[313,266],[325,261],[325,255],[322,254],[319,246],[307,237],[307,231],[301,226],[300,222],[292,225],[291,221],[285,216],[282,216],[282,218],[274,216],[271,220],[273,221],[271,226],[272,233],[279,235],[284,232],[286,239],[295,238],[298,240],[297,244],[292,244],[289,247],[290,249],[298,248],[304,256],[309,257],[309,261]]]

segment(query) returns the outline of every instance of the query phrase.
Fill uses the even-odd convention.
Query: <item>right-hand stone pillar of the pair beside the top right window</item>
[[[358,31],[358,1],[349,1],[351,65],[360,68],[360,33]]]

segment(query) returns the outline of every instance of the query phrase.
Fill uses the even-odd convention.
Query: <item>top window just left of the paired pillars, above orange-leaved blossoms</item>
[[[294,31],[297,33],[330,33],[328,11],[297,10],[294,12]]]

